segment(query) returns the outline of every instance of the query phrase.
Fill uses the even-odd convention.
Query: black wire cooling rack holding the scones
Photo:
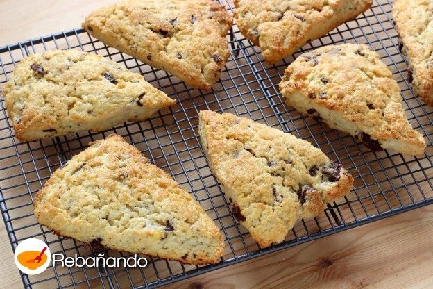
[[[230,2],[226,5],[232,10]],[[37,142],[17,142],[1,97],[0,209],[13,250],[21,240],[40,238],[52,253],[94,254],[87,245],[60,238],[37,224],[32,201],[54,170],[85,149],[88,142],[105,138],[112,132],[124,136],[191,192],[219,226],[226,242],[223,260],[217,265],[182,265],[149,258],[151,262],[144,269],[56,266],[35,276],[21,273],[24,288],[155,288],[432,204],[433,109],[421,103],[405,80],[407,62],[398,51],[398,35],[391,14],[390,1],[377,0],[354,21],[314,40],[277,65],[262,62],[260,49],[245,40],[234,26],[228,35],[231,57],[221,80],[208,93],[189,88],[166,72],[106,47],[82,29],[1,47],[0,88],[19,60],[31,53],[82,49],[123,63],[178,101],[176,106],[160,110],[146,122],[126,123],[101,133],[84,132]],[[303,117],[282,103],[278,83],[287,65],[304,51],[343,42],[369,44],[380,53],[400,85],[409,122],[425,135],[427,148],[423,156],[370,151],[350,135]],[[260,249],[246,229],[237,224],[228,208],[228,200],[207,166],[198,138],[199,110],[234,113],[308,140],[353,174],[355,188],[346,197],[328,204],[323,215],[298,222],[282,244]],[[128,256],[118,251],[105,251],[105,254]]]

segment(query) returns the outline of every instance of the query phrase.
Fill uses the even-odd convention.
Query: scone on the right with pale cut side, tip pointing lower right
[[[397,82],[366,45],[330,45],[304,53],[287,67],[280,90],[287,105],[373,150],[424,153],[425,140],[405,117]]]

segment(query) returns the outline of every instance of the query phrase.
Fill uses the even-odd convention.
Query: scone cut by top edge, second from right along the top
[[[370,8],[372,0],[235,0],[241,33],[268,63],[293,54]]]

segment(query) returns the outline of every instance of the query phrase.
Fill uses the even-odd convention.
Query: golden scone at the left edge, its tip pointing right
[[[78,50],[21,60],[3,89],[19,140],[103,131],[142,121],[175,101],[110,58]]]

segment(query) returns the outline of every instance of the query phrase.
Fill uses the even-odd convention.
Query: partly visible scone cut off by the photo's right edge
[[[433,1],[394,0],[393,19],[409,62],[407,79],[425,104],[433,106]]]

